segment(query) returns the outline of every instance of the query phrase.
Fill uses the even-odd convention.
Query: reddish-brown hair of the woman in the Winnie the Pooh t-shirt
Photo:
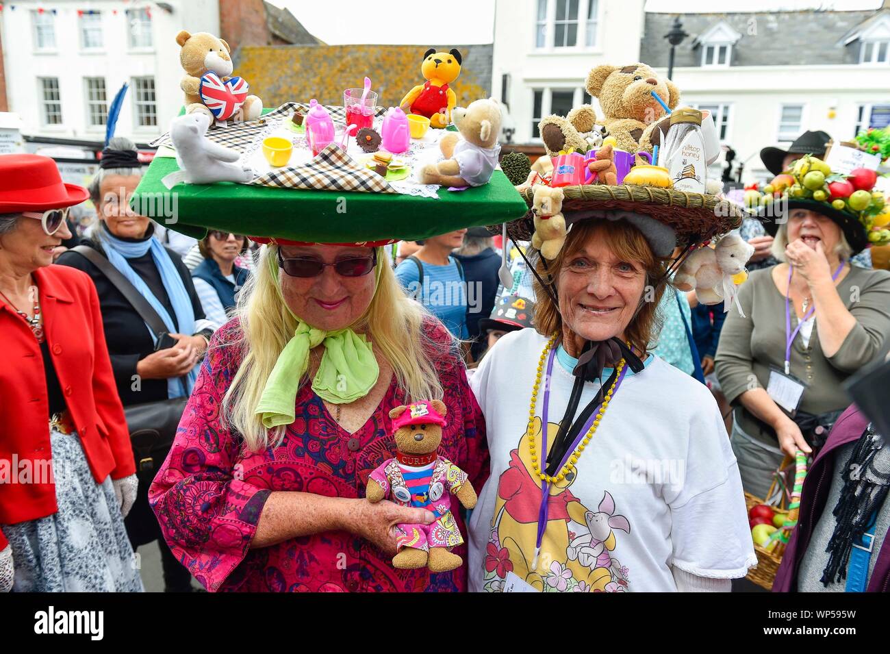
[[[634,318],[625,329],[627,340],[637,353],[643,353],[651,349],[651,345],[660,329],[660,317],[658,312],[661,296],[667,288],[664,260],[652,253],[649,242],[643,236],[643,232],[637,230],[627,221],[587,220],[576,222],[572,226],[562,250],[552,262],[547,262],[544,267],[543,257],[538,257],[536,269],[541,279],[547,279],[547,270],[554,282],[559,279],[562,264],[573,254],[577,253],[585,243],[600,238],[612,253],[619,259],[627,262],[641,262],[646,271],[646,286],[643,287],[641,306],[636,311]],[[534,281],[535,288],[535,327],[541,335],[549,336],[555,333],[562,338],[562,314],[559,306],[553,298],[541,286],[538,279]],[[647,293],[650,293],[647,296]],[[558,293],[558,291],[557,291]]]

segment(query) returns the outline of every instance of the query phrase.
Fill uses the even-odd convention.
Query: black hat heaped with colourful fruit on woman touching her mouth
[[[869,243],[890,243],[886,199],[882,192],[873,190],[877,179],[878,174],[866,168],[837,174],[824,161],[805,155],[789,171],[777,175],[763,192],[749,190],[745,204],[760,216],[770,236],[776,235],[791,209],[824,215],[837,223],[855,254]]]

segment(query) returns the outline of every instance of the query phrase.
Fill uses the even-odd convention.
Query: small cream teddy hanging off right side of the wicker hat
[[[694,289],[702,304],[728,300],[724,311],[729,311],[735,297],[732,276],[745,270],[751,254],[754,254],[754,246],[737,233],[729,233],[714,248],[700,247],[687,256],[676,271],[674,284],[681,291]]]

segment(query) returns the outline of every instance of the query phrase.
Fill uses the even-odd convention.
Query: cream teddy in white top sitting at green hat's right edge
[[[439,141],[445,161],[420,169],[420,182],[443,186],[482,186],[489,183],[500,155],[501,111],[498,101],[475,100],[454,110],[459,134],[449,132]]]

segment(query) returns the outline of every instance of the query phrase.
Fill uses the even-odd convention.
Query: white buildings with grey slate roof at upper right
[[[497,6],[492,89],[509,106],[514,143],[540,143],[541,117],[589,101],[587,72],[601,63],[644,61],[667,75],[664,35],[677,14],[644,12],[637,0]],[[711,110],[744,182],[771,176],[759,157],[765,146],[785,147],[806,130],[850,141],[860,129],[886,125],[890,9],[680,19],[689,35],[672,75],[680,103]]]

